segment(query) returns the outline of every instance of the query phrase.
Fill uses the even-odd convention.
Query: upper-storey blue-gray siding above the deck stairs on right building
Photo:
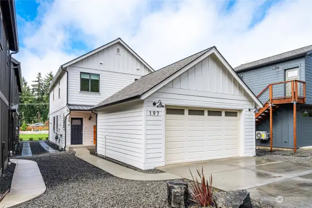
[[[279,69],[273,69],[275,65],[279,67]],[[242,76],[242,80],[247,86],[255,95],[258,95],[269,84],[284,82],[285,70],[295,67],[299,67],[299,79],[305,81],[305,58],[280,62],[244,72],[238,72],[237,74],[240,77]]]

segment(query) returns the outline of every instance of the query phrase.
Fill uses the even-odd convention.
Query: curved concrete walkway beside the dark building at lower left
[[[27,202],[44,193],[46,189],[36,162],[17,159],[11,159],[11,162],[16,164],[11,189],[1,201],[0,208]]]

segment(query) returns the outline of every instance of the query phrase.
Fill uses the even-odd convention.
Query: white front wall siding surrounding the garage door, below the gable
[[[240,156],[255,155],[253,99],[244,92],[234,77],[209,56],[176,77],[144,100],[146,125],[145,169],[165,165],[165,108],[153,102],[161,100],[166,106],[235,109],[240,112]],[[150,111],[159,111],[157,116]]]

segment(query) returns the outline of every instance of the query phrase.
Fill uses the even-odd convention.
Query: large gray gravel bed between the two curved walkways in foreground
[[[47,189],[18,208],[170,208],[165,181],[120,179],[79,159],[72,151],[19,159],[38,163]],[[196,207],[190,198],[187,207]],[[255,200],[253,207],[272,208]]]

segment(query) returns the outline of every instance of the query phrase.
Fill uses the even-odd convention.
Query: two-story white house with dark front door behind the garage
[[[67,150],[96,146],[90,107],[153,71],[120,38],[61,65],[49,87],[49,140]]]

